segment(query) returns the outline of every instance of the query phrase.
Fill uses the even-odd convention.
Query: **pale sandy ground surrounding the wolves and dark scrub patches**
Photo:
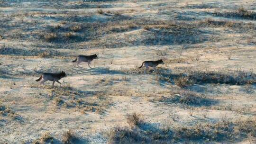
[[[183,37],[177,37],[175,43],[163,40],[169,33],[148,33],[143,26],[111,32],[104,31],[103,26],[116,21],[110,26],[125,27],[123,21],[118,21],[122,17],[124,21],[145,18],[192,24],[212,18],[256,24],[256,19],[212,14],[242,6],[255,11],[254,0],[10,1],[0,3],[0,104],[12,109],[15,116],[0,115],[0,143],[30,144],[47,131],[54,136],[54,144],[61,144],[62,134],[72,129],[78,137],[73,143],[104,144],[109,142],[104,133],[116,125],[129,126],[126,116],[133,112],[141,113],[152,127],[212,124],[224,116],[229,120],[256,117],[256,79],[251,76],[256,70],[256,29],[209,25],[198,27],[192,36],[186,33],[188,37],[183,41],[187,42],[180,43],[178,40]],[[77,37],[47,42],[41,36],[54,31],[63,37],[70,31],[68,27],[76,24],[82,25],[82,30],[72,32]],[[52,30],[58,25],[60,29]],[[89,25],[99,25],[103,30],[90,31]],[[158,42],[150,43],[150,36],[159,37]],[[202,40],[190,43],[189,37]],[[47,50],[49,55],[40,55]],[[99,59],[92,61],[91,69],[87,63],[77,67],[72,61],[81,54],[97,54]],[[159,65],[157,72],[144,74],[137,69],[143,61],[161,58],[165,64]],[[43,72],[61,71],[67,73],[60,80],[62,86],[55,83],[51,87],[49,81],[40,86],[35,81]],[[227,77],[244,72],[252,83],[197,81],[184,88],[175,84],[180,73],[192,72],[223,72]],[[71,91],[75,92],[63,94],[59,87],[73,88]],[[180,90],[204,95],[209,101],[191,105],[157,100]],[[62,103],[56,104],[55,97],[62,99]],[[79,99],[83,104],[77,102]],[[255,140],[245,136],[210,142],[253,144]],[[189,140],[174,143],[186,142]]]

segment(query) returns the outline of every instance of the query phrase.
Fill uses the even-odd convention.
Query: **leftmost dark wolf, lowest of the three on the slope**
[[[60,73],[43,73],[39,79],[37,79],[36,81],[41,81],[43,79],[43,81],[40,82],[40,85],[45,85],[44,82],[46,81],[53,81],[53,85],[56,82],[58,82],[60,85],[61,83],[59,82],[59,80],[61,78],[67,77],[65,72],[60,72]]]

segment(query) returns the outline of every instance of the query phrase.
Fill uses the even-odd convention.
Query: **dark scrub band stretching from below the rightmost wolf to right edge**
[[[123,70],[127,74],[143,74],[144,69],[132,68]],[[148,72],[149,73],[149,72]],[[188,87],[192,84],[203,83],[220,83],[220,84],[232,84],[232,85],[244,85],[256,83],[256,73],[253,71],[233,71],[233,72],[216,72],[216,71],[188,71],[186,73],[173,73],[169,69],[157,68],[156,72],[151,74],[157,74],[160,81],[167,81],[178,85],[181,88]]]

